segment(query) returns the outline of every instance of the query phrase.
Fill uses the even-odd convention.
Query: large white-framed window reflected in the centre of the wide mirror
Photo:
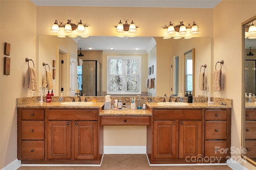
[[[108,94],[140,94],[140,57],[108,57]]]

